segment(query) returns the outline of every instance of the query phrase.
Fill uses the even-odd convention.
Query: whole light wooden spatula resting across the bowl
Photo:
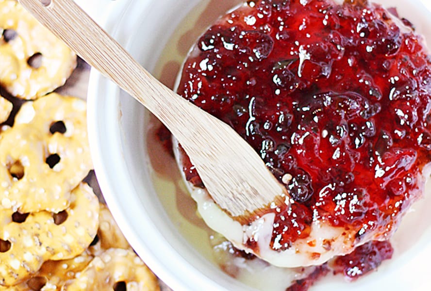
[[[157,116],[178,139],[206,189],[232,217],[253,213],[285,188],[231,127],[156,80],[73,0],[19,0],[88,64]],[[140,134],[140,133],[136,133]]]

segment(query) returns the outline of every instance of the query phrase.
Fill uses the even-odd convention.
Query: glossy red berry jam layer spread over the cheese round
[[[275,250],[306,238],[314,220],[353,229],[358,241],[390,235],[424,188],[424,41],[381,6],[352,2],[249,1],[205,32],[183,67],[179,94],[232,126],[287,181],[295,202],[268,210]]]

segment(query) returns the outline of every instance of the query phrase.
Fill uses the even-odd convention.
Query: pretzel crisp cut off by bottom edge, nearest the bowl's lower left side
[[[117,248],[94,258],[63,290],[116,290],[117,284],[124,284],[128,291],[160,290],[155,275],[133,251]]]

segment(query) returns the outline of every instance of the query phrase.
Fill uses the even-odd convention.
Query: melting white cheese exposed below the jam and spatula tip
[[[182,168],[182,153],[178,142],[173,141],[174,154],[180,169]],[[430,176],[431,167],[426,167],[424,177]],[[390,233],[377,228],[368,231],[360,242],[355,241],[357,229],[334,227],[324,220],[315,219],[311,225],[311,233],[306,239],[298,239],[286,250],[274,250],[270,246],[274,224],[274,213],[268,213],[253,221],[249,226],[242,226],[221,210],[206,189],[193,186],[185,180],[185,184],[198,205],[198,211],[205,223],[241,250],[253,253],[270,264],[284,268],[320,265],[335,256],[345,255],[353,249],[370,240],[385,240]],[[425,179],[425,178],[424,178]],[[400,217],[399,217],[400,219]],[[397,224],[395,224],[397,225]],[[258,252],[250,249],[246,242],[252,238],[258,244]]]

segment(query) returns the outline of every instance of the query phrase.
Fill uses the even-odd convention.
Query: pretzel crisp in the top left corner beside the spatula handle
[[[12,95],[35,99],[66,82],[76,55],[16,0],[0,0],[0,29],[0,83]]]

